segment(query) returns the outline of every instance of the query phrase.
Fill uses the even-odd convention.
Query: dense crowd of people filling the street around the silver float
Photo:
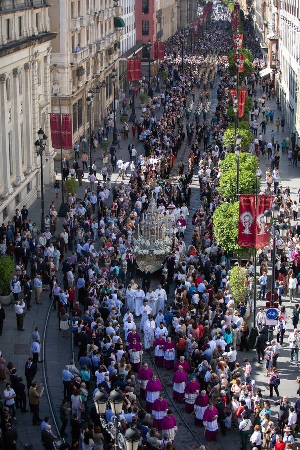
[[[287,396],[282,400],[279,398],[280,372],[276,362],[279,343],[283,344],[286,311],[280,303],[277,340],[270,345],[267,345],[268,326],[264,310],[261,309],[256,316],[258,363],[265,364],[269,396],[273,396],[273,391],[278,396],[279,415],[278,423],[275,423],[271,420],[270,401],[263,398],[261,388],[255,388],[249,359],[242,357],[242,362],[238,361],[240,355],[237,350],[249,350],[247,310],[244,302],[237,305],[232,298],[230,255],[217,245],[213,236],[213,211],[223,201],[230,201],[221,198],[217,191],[219,163],[231,151],[223,146],[222,141],[224,130],[230,123],[228,88],[234,83],[228,72],[227,54],[232,47],[229,29],[231,25],[225,19],[212,24],[205,37],[194,45],[193,55],[187,56],[186,61],[176,54],[179,33],[165,43],[167,56],[160,70],[168,73],[166,90],[156,96],[155,102],[148,101],[141,117],[135,118],[135,128],[131,129],[133,138],[135,130],[138,137],[142,136],[144,154],[138,155],[135,145],[128,140],[128,160],[119,158],[117,161],[117,150],[111,146],[109,156],[104,155],[106,159],[103,159],[103,168],[109,166],[110,169],[110,158],[110,172],[101,169],[103,182],[99,181],[95,189],[97,168],[94,166],[89,176],[90,187],[84,197],[68,196],[69,209],[57,238],[54,203],[46,216],[44,232],[29,219],[26,206],[21,211],[16,210],[13,223],[3,224],[0,228],[1,255],[14,257],[16,262],[11,291],[15,300],[17,329],[24,330],[24,310],[30,311],[33,292],[35,302],[40,305],[42,291],[48,290],[53,309],[57,309],[61,339],[69,337],[69,329],[73,334],[77,361],[66,361],[65,367],[61,368],[60,435],[67,438],[69,423],[69,448],[78,448],[79,442],[83,450],[114,448],[96,406],[90,400],[96,398],[98,391],[110,393],[120,390],[124,393],[123,410],[118,417],[121,433],[136,427],[141,433],[140,442],[148,448],[174,450],[180,429],[176,413],[172,412],[169,401],[162,395],[163,386],[157,374],[158,370],[164,370],[163,367],[173,383],[172,401],[174,404],[185,402],[186,413],[194,413],[195,429],[204,426],[207,441],[216,440],[219,430],[226,435],[229,430],[234,432],[238,429],[243,450],[247,448],[249,435],[251,446],[258,450],[261,447],[275,450],[294,448],[300,401],[292,406]],[[254,45],[250,36],[247,45]],[[214,58],[210,57],[211,54]],[[254,89],[260,64],[257,59],[249,80]],[[205,71],[210,73],[207,78]],[[189,114],[194,108],[197,91],[202,89],[202,82],[206,92],[209,84],[212,89],[215,73],[219,84],[211,122],[206,123],[207,115],[203,114],[200,123],[200,117],[195,114],[194,124],[193,120],[189,121]],[[139,87],[146,89],[146,83],[141,82]],[[269,88],[270,84],[267,90]],[[206,93],[206,99],[211,100],[210,94],[207,98]],[[202,102],[204,98],[201,101],[199,91],[198,110],[202,110]],[[257,106],[260,107],[258,103]],[[102,136],[111,132],[109,120],[110,117],[100,131]],[[188,162],[177,164],[177,156],[185,145],[188,147]],[[78,161],[79,148],[75,155]],[[84,172],[83,159],[81,157],[82,169],[75,168],[73,176],[78,176],[78,170]],[[86,162],[87,159],[87,169]],[[175,164],[177,170],[173,170]],[[131,176],[128,183],[122,180],[109,190],[110,184],[106,181],[112,171],[118,167],[122,179],[125,179],[129,165]],[[68,163],[63,166],[68,168]],[[294,211],[291,209],[293,203],[288,186],[286,189],[278,187],[280,178],[275,185],[275,170],[272,174],[274,192],[270,190],[270,193],[283,209],[282,218],[288,222],[286,214],[288,210]],[[170,177],[174,171],[176,176]],[[195,174],[199,183],[197,207],[190,214]],[[55,189],[58,189],[57,185]],[[136,231],[140,223],[147,220],[152,192],[166,233],[172,239],[172,249],[163,262],[167,275],[156,284],[147,268],[141,274],[137,272],[134,254]],[[111,205],[109,199],[112,200]],[[290,230],[289,256],[285,256],[283,249],[278,247],[281,259],[276,265],[279,298],[282,297],[282,289],[288,285],[291,301],[295,297],[300,272],[297,227]],[[191,229],[189,242],[186,236]],[[68,251],[71,256],[65,257]],[[267,284],[268,257],[261,251],[261,298],[264,298]],[[289,267],[291,261],[293,264]],[[62,285],[59,285],[55,274],[60,269]],[[251,298],[254,270],[251,259],[247,270]],[[288,342],[291,361],[295,357],[297,364],[299,314],[300,306],[296,304],[293,312],[295,331],[288,337]],[[3,308],[0,308],[1,317],[5,319]],[[3,320],[0,322],[2,327]],[[155,364],[151,366],[152,350]],[[34,380],[38,364],[42,362],[38,328],[32,334],[31,352],[32,358],[28,359],[24,374],[32,423],[41,426],[43,446],[50,449],[56,436],[51,429],[50,418],[42,420],[39,417],[44,387]],[[13,449],[17,441],[14,426],[16,408],[23,413],[28,412],[27,393],[23,377],[18,374],[20,368],[17,370],[11,361],[4,358],[2,349],[0,380],[5,388],[2,390],[0,448]],[[107,422],[114,419],[110,408],[105,419]],[[201,450],[204,448],[202,446]]]

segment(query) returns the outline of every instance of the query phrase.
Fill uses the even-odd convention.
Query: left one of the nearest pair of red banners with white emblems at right
[[[238,245],[255,246],[255,195],[239,196]]]

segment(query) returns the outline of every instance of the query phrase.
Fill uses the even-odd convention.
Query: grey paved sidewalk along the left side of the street
[[[138,101],[136,102],[138,103]],[[157,111],[157,116],[161,114],[161,111]],[[136,104],[136,116],[139,118],[141,115],[141,109],[139,105]],[[122,126],[122,122],[117,120],[118,124]],[[137,149],[137,156],[141,153],[144,153],[143,145],[138,141],[137,138],[132,138],[131,126],[129,124],[129,139],[121,140],[121,148],[117,150],[117,158],[122,157],[125,161],[129,160],[128,153],[128,144],[129,142],[133,142]],[[123,137],[123,134],[122,134]],[[109,134],[108,140],[112,142],[112,133]],[[82,149],[80,148],[80,158],[82,154]],[[96,152],[92,150],[92,160],[96,161],[97,165],[97,178],[102,180],[102,176],[99,175],[99,172],[102,168],[102,154],[103,150],[100,146]],[[72,160],[69,161],[70,166],[72,165]],[[80,160],[81,165],[81,160]],[[61,180],[60,174],[60,161],[55,162],[55,168],[57,168],[57,179]],[[116,182],[118,179],[118,170],[113,173],[111,185]],[[124,180],[125,183],[128,183],[129,178]],[[120,179],[119,179],[120,181]],[[85,189],[89,187],[89,181],[87,179],[87,172],[85,172],[85,178],[83,179],[82,186],[79,186],[77,189],[78,198],[83,198],[85,195]],[[61,204],[61,192],[59,193],[59,197],[56,198],[56,194],[53,188],[53,185],[45,185],[44,186],[44,198],[45,198],[45,216],[48,214],[48,209],[52,201],[55,202],[55,207],[58,212],[60,204]],[[30,207],[29,211],[29,219],[32,219],[33,222],[36,222],[37,226],[40,228],[41,224],[41,200],[37,199],[33,205]],[[56,236],[62,230],[63,218],[58,217],[57,220],[57,231]],[[71,252],[65,253],[65,257],[69,257]],[[56,273],[58,280],[61,279],[62,273],[61,270]],[[72,346],[71,346],[71,338],[62,339],[60,337],[60,332],[58,328],[58,318],[57,318],[57,310],[53,311],[53,309],[49,313],[49,320],[47,324],[47,328],[45,330],[46,319],[50,308],[49,303],[49,292],[44,291],[41,294],[41,302],[42,305],[37,305],[35,303],[34,295],[32,295],[32,308],[29,312],[26,313],[24,320],[24,328],[25,331],[20,332],[16,329],[16,318],[14,313],[14,306],[11,304],[8,307],[5,307],[6,321],[3,327],[3,334],[1,336],[0,342],[0,350],[3,353],[3,357],[8,361],[12,361],[14,367],[17,369],[17,374],[19,376],[23,376],[24,381],[24,371],[25,371],[25,363],[29,356],[32,356],[30,351],[31,345],[31,335],[34,331],[35,327],[39,327],[40,336],[41,336],[41,346],[43,345],[44,333],[46,338],[45,345],[45,354],[41,353],[41,359],[44,359],[45,371],[47,374],[48,381],[48,392],[44,392],[44,395],[40,402],[40,418],[44,418],[45,416],[51,416],[51,409],[48,401],[48,396],[51,398],[51,402],[54,409],[54,414],[58,421],[58,427],[60,427],[59,421],[59,406],[63,397],[63,385],[61,373],[62,370],[70,359],[72,358]],[[38,364],[38,372],[35,377],[37,383],[43,383],[46,386],[46,380],[43,376],[42,364]],[[9,381],[9,380],[7,380]],[[1,383],[0,385],[1,391],[3,392],[5,383]],[[26,388],[27,392],[27,388]],[[27,401],[27,409],[29,409],[29,404]],[[57,430],[53,420],[51,419],[52,431],[55,435],[59,435],[59,429]],[[19,442],[18,448],[22,448],[22,445],[31,444],[33,448],[41,448],[41,439],[40,439],[40,430],[37,426],[32,425],[32,414],[30,412],[21,413],[19,409],[17,409],[16,413],[16,430],[18,432]]]

